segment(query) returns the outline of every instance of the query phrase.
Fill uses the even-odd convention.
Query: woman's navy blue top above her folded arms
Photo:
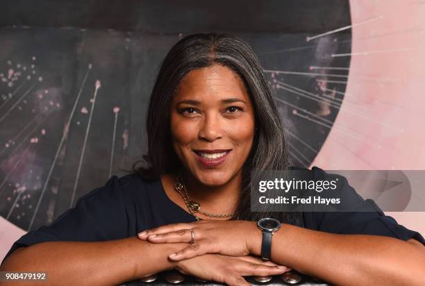
[[[328,175],[317,167],[311,172],[315,178]],[[358,196],[347,179],[342,178],[343,192]],[[365,204],[370,201],[360,200]],[[397,224],[375,208],[376,212],[303,212],[303,224],[305,228],[327,233],[385,235],[405,241],[415,238],[425,245],[422,235]],[[169,199],[159,179],[148,182],[138,174],[113,176],[103,187],[81,196],[74,208],[61,214],[50,226],[31,230],[19,238],[5,259],[19,247],[40,242],[122,239],[149,228],[193,221],[196,219],[189,212]]]

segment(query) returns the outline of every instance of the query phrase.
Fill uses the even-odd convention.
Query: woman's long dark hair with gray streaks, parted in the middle
[[[221,33],[199,33],[183,37],[167,53],[153,86],[147,112],[148,151],[134,163],[133,171],[147,180],[181,169],[172,147],[169,105],[182,78],[193,69],[224,65],[242,81],[253,102],[256,135],[251,152],[242,167],[240,203],[233,219],[257,221],[274,217],[281,222],[303,226],[299,212],[251,212],[251,170],[285,170],[290,166],[286,136],[276,108],[272,89],[253,49],[240,37]],[[144,166],[139,166],[144,163]]]

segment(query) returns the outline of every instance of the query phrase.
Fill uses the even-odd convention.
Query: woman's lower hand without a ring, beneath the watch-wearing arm
[[[221,254],[205,254],[181,260],[175,268],[182,274],[238,286],[250,285],[242,276],[272,276],[291,270],[249,255],[235,257]]]

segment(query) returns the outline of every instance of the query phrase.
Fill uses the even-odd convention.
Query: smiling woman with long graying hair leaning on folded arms
[[[90,285],[172,268],[228,285],[290,268],[338,285],[424,283],[424,238],[381,210],[250,212],[251,170],[290,163],[263,69],[238,37],[189,35],[169,51],[147,134],[146,166],[113,176],[51,226],[24,235],[1,271],[47,271],[53,283]],[[265,217],[281,222],[268,257],[256,225]]]

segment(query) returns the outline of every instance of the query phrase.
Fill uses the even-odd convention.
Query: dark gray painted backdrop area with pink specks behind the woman
[[[146,151],[145,112],[160,62],[188,33],[237,33],[251,44],[267,70],[320,74],[267,72],[291,133],[294,165],[313,162],[343,100],[342,94],[321,90],[317,79],[344,81],[347,78],[326,74],[344,76],[348,71],[310,67],[349,67],[349,57],[331,55],[351,51],[351,33],[333,33],[310,42],[306,37],[349,25],[348,1],[260,1],[255,6],[242,1],[202,5],[178,1],[178,6],[169,4],[177,1],[119,2],[108,1],[108,6],[106,1],[2,3],[1,216],[24,229],[33,220],[33,229],[69,208],[92,105],[74,203],[106,183],[112,153],[113,174],[121,176],[124,172],[119,168],[131,168]],[[286,89],[279,88],[278,82]],[[328,90],[334,87],[345,90],[344,84],[326,85]],[[96,101],[91,103],[96,90]],[[114,108],[119,112],[114,113]]]

